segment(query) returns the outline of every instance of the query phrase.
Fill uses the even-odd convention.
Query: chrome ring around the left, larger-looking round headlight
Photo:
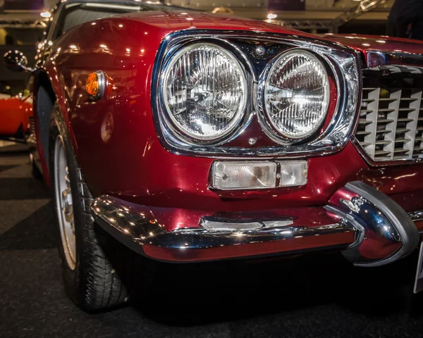
[[[201,137],[199,135],[195,135],[190,133],[188,130],[184,130],[184,128],[178,123],[178,120],[174,117],[171,113],[171,109],[168,105],[168,97],[166,94],[166,90],[164,86],[170,75],[171,69],[176,62],[178,62],[179,58],[184,54],[192,51],[197,47],[208,46],[210,48],[219,50],[222,54],[224,54],[228,59],[233,62],[236,68],[238,68],[238,73],[240,75],[240,82],[241,87],[243,89],[243,101],[241,102],[240,106],[238,107],[235,117],[229,123],[229,127],[221,132],[219,135],[214,137]],[[226,48],[225,48],[226,47]],[[248,85],[247,85],[247,73],[245,72],[245,66],[240,62],[240,58],[237,57],[233,51],[231,51],[232,46],[221,46],[220,44],[216,44],[215,42],[192,42],[190,44],[184,44],[180,46],[180,48],[176,49],[173,54],[168,58],[168,61],[164,65],[163,71],[161,73],[159,88],[160,90],[160,97],[162,104],[164,106],[163,109],[163,120],[166,123],[166,126],[169,130],[171,130],[175,136],[180,140],[180,142],[187,142],[188,144],[198,144],[198,145],[216,145],[222,144],[226,142],[228,137],[231,137],[237,130],[239,130],[244,125],[245,115],[246,115],[246,107],[247,107],[247,95],[248,95]]]

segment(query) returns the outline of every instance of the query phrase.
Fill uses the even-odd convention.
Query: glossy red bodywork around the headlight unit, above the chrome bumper
[[[166,151],[154,127],[150,99],[159,45],[171,32],[192,29],[312,37],[254,20],[196,12],[121,15],[98,20],[96,25],[80,25],[63,35],[51,46],[44,70],[94,196],[112,194],[140,205],[209,214],[322,206],[353,180],[364,180],[391,196],[421,193],[422,164],[372,168],[353,144],[338,154],[309,158],[304,187],[247,192],[209,189],[214,158]],[[114,81],[110,94],[99,101],[85,91],[87,75],[96,70],[104,70]],[[423,208],[423,201],[413,207]],[[168,230],[177,228],[177,223],[170,224]]]

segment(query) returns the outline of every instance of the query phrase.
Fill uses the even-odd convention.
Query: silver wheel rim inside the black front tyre
[[[76,265],[76,244],[72,189],[69,181],[65,147],[60,135],[54,145],[54,183],[57,219],[59,220],[63,251],[69,268],[74,270]]]

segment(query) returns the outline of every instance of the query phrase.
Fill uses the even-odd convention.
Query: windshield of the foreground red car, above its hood
[[[107,18],[109,16],[139,11],[176,11],[181,9],[186,8],[166,5],[136,4],[130,1],[120,3],[84,2],[67,4],[63,8],[61,15],[59,15],[59,21],[56,23],[54,39],[60,37],[71,28],[82,25],[82,23]]]

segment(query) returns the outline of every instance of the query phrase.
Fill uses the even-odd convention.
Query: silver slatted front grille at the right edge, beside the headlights
[[[363,71],[355,137],[374,161],[423,158],[423,68],[381,66]]]

